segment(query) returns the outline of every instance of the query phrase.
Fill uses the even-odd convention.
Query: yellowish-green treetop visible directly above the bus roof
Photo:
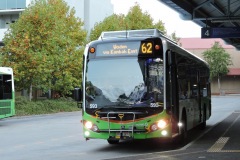
[[[128,14],[116,15],[113,14],[106,17],[102,22],[96,23],[90,33],[90,41],[96,40],[102,31],[116,31],[116,30],[134,30],[134,29],[149,29],[157,28],[166,33],[166,29],[162,21],[153,23],[152,17],[147,13],[143,13],[140,5],[136,3],[130,8]]]

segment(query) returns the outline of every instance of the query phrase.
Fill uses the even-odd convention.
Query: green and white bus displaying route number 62
[[[211,116],[209,66],[157,29],[103,32],[84,51],[84,137],[184,140]]]

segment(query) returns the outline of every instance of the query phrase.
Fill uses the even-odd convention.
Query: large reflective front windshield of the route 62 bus
[[[160,107],[162,60],[138,57],[90,60],[85,96],[86,108]]]

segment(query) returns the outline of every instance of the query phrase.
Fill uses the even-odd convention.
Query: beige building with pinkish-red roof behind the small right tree
[[[212,79],[211,90],[212,94],[240,94],[240,51],[236,50],[232,45],[227,45],[222,39],[201,39],[201,38],[182,38],[180,45],[186,50],[192,52],[196,56],[203,58],[203,52],[210,49],[215,42],[224,48],[229,53],[232,60],[232,65],[229,66],[228,74],[220,78],[220,86],[218,80]]]

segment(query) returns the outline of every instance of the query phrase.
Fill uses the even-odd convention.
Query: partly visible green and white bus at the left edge
[[[0,119],[15,115],[13,70],[0,67]]]

